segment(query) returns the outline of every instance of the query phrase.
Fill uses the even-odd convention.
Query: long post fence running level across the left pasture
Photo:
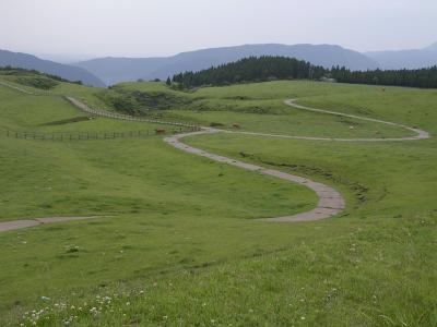
[[[2,134],[11,138],[35,140],[35,141],[92,141],[92,140],[115,140],[115,138],[132,138],[146,137],[154,135],[168,135],[185,132],[199,131],[198,128],[180,126],[170,130],[143,130],[143,131],[127,131],[127,132],[21,132],[21,131],[3,131]]]

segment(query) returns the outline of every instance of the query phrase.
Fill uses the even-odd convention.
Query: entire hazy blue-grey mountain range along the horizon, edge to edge
[[[291,57],[324,68],[339,65],[351,70],[417,69],[437,64],[437,43],[417,50],[366,53],[332,45],[245,45],[202,49],[161,58],[97,58],[73,64],[61,64],[32,55],[0,50],[0,66],[34,69],[69,81],[82,81],[86,85],[103,87],[140,78],[163,80],[180,72],[200,71],[250,56]]]

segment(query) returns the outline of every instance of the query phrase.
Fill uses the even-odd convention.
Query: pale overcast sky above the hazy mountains
[[[437,41],[437,0],[0,0],[0,49],[58,59],[245,44],[358,51]]]

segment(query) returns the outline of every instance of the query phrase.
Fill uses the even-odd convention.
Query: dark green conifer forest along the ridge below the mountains
[[[221,86],[245,82],[274,80],[333,78],[341,83],[375,84],[437,88],[437,66],[420,70],[351,71],[345,68],[324,69],[309,62],[285,57],[250,57],[236,62],[213,66],[199,72],[185,72],[173,76],[180,88],[204,85]]]

